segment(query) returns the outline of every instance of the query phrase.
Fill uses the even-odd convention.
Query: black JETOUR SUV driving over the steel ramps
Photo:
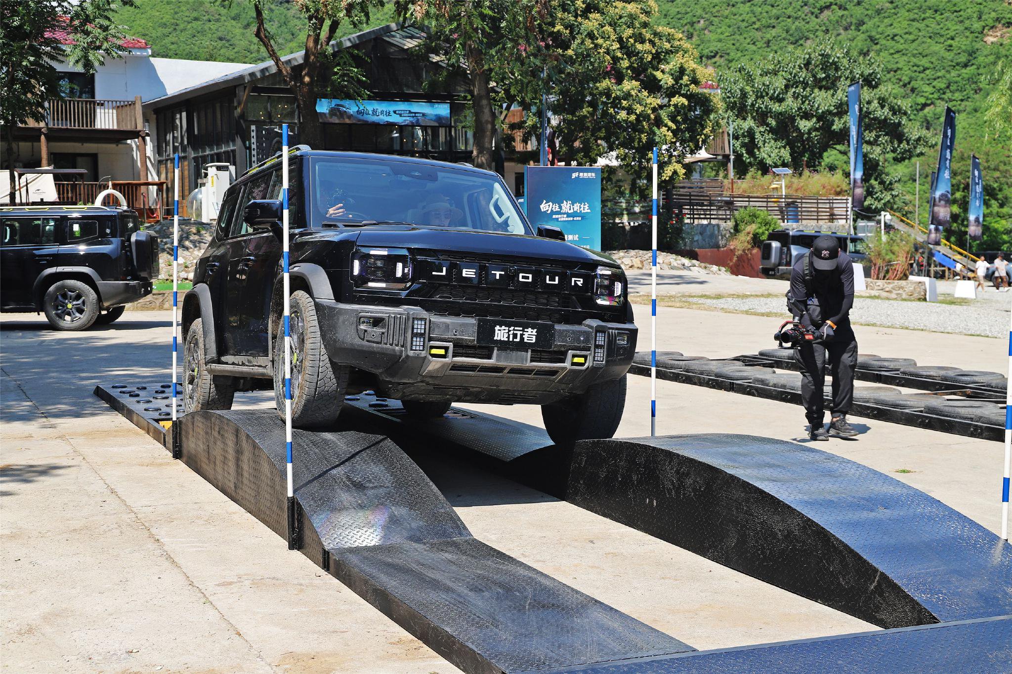
[[[637,327],[611,258],[535,234],[488,171],[304,147],[288,163],[296,424],[327,425],[372,390],[416,416],[539,404],[557,443],[614,434]],[[187,410],[271,379],[284,409],[280,168],[275,156],[229,188],[197,261]]]

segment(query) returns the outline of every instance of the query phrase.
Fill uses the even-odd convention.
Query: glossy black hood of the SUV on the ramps
[[[430,249],[447,253],[541,258],[618,267],[613,259],[603,253],[580,248],[567,242],[528,234],[475,231],[474,229],[440,229],[409,224],[377,224],[363,227],[356,243],[358,246],[375,246],[377,248]]]

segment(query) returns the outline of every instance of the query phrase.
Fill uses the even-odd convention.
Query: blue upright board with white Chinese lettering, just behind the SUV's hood
[[[551,224],[566,240],[601,250],[601,169],[574,166],[524,167],[527,219]]]

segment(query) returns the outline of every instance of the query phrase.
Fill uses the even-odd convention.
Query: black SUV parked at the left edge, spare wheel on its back
[[[158,237],[126,208],[0,206],[0,310],[57,329],[111,323],[158,276]]]

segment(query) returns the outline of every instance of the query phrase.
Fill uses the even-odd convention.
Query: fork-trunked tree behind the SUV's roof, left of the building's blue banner
[[[383,8],[384,0],[296,0],[294,4],[306,20],[306,45],[303,63],[288,66],[281,60],[274,44],[274,36],[267,28],[265,5],[267,0],[253,0],[256,16],[254,35],[274,62],[277,72],[296,97],[301,119],[299,138],[311,147],[323,147],[323,124],[317,114],[316,102],[320,93],[350,95],[355,98],[365,93],[364,76],[347,51],[331,52],[330,42],[337,35],[341,23],[347,21],[360,27],[369,20],[369,14]]]

